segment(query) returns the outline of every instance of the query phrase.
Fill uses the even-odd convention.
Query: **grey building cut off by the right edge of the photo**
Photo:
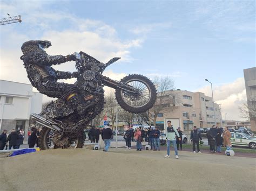
[[[256,67],[244,69],[247,105],[252,131],[256,131]]]

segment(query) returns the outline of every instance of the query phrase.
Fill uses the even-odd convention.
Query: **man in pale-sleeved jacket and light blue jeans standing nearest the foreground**
[[[170,158],[170,145],[172,143],[173,147],[174,147],[174,151],[175,151],[175,155],[176,155],[176,159],[179,158],[178,156],[178,150],[177,150],[177,144],[176,144],[176,138],[175,138],[175,133],[178,136],[178,139],[181,140],[181,138],[179,137],[179,133],[178,131],[173,128],[172,126],[172,122],[171,121],[167,121],[167,132],[166,132],[166,139],[167,139],[167,154],[164,156],[165,158]]]

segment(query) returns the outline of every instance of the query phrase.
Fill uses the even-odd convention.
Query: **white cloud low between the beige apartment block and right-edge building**
[[[205,86],[197,91],[205,93],[205,95],[212,97],[211,85]],[[243,77],[239,77],[234,82],[226,83],[220,86],[214,86],[213,84],[213,97],[214,101],[218,104],[221,103],[221,110],[223,119],[228,120],[241,120],[245,121],[245,118],[241,118],[239,105],[247,101],[245,81]]]

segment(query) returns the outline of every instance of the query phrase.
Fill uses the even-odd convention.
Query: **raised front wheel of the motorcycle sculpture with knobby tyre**
[[[131,93],[123,89],[116,89],[117,102],[123,109],[139,114],[153,107],[157,98],[157,90],[147,77],[132,74],[125,76],[120,82],[137,90],[136,93]]]

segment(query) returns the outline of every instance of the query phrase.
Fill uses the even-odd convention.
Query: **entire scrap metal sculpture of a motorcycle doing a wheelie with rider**
[[[21,59],[32,86],[42,94],[58,98],[40,114],[31,114],[31,119],[43,126],[38,141],[42,150],[83,147],[85,126],[103,110],[104,86],[116,89],[118,104],[129,112],[145,112],[156,101],[156,88],[145,76],[132,74],[114,81],[102,75],[107,66],[120,58],[104,64],[84,52],[51,56],[44,51],[50,46],[50,41],[31,40],[21,47]],[[76,61],[77,72],[51,67],[72,60]],[[74,84],[57,82],[72,77],[77,78]]]

